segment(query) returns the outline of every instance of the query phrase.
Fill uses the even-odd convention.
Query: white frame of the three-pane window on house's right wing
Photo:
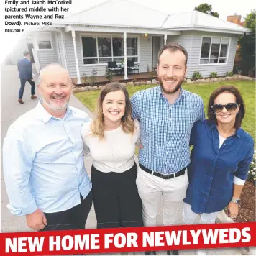
[[[219,54],[220,54],[220,52],[221,52],[221,43],[222,43],[222,40],[223,39],[228,39],[229,40],[229,44],[228,44],[228,46],[227,46],[227,57],[219,57],[218,56],[218,58],[213,58],[213,57],[210,57],[210,55],[211,55],[211,45],[210,45],[210,49],[209,49],[209,56],[208,57],[204,57],[204,58],[201,58],[201,52],[202,52],[202,46],[203,46],[203,38],[211,38],[211,45],[212,45],[212,39],[213,38],[220,38],[221,39],[221,42],[220,42],[220,46],[219,46]],[[199,54],[199,65],[207,65],[207,66],[209,66],[209,65],[227,65],[227,63],[229,62],[229,50],[230,50],[230,45],[231,45],[231,37],[221,37],[221,36],[214,36],[214,37],[210,37],[209,35],[203,35],[202,37],[201,37],[201,50],[200,50],[200,54]],[[206,60],[206,59],[209,59],[209,63],[204,63],[204,64],[201,64],[200,63],[200,60]],[[219,61],[219,59],[227,59],[227,61],[226,61],[226,63],[210,63],[210,60],[211,59],[218,59],[218,61]]]

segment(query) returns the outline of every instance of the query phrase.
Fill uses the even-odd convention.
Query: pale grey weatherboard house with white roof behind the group
[[[163,14],[127,0],[111,0],[74,14],[51,27],[29,32],[37,71],[50,63],[60,63],[71,78],[104,76],[107,63],[127,60],[140,66],[140,72],[157,65],[157,54],[164,44],[177,42],[188,51],[187,78],[199,71],[224,76],[233,70],[238,36],[245,27],[193,11]]]

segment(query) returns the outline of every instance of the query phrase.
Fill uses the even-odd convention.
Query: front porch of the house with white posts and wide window
[[[97,76],[96,83],[106,83],[106,70],[111,70],[109,63],[116,63],[118,68],[122,66],[122,77],[117,73],[113,76],[113,81],[150,78],[147,70],[156,68],[160,48],[166,44],[169,35],[179,36],[180,32],[147,28],[68,26],[63,34],[65,48],[68,50],[67,68],[71,77],[76,78],[73,82],[82,84],[83,74],[90,77],[94,73]],[[133,66],[139,74],[129,74]]]

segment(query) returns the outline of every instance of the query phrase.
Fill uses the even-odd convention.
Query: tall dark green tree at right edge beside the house
[[[245,18],[245,27],[250,29],[251,32],[239,37],[242,58],[241,70],[245,76],[255,76],[255,17],[256,11],[253,9]]]

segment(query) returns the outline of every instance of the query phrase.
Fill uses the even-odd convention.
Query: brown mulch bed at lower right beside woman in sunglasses
[[[254,222],[256,221],[255,216],[255,185],[252,181],[247,181],[244,184],[244,188],[241,194],[241,206],[235,222]],[[229,216],[227,209],[225,213]]]

